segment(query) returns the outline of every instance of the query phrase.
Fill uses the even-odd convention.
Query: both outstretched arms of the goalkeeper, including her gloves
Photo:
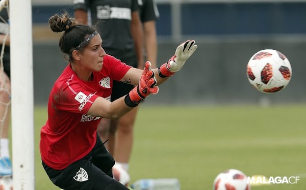
[[[158,93],[157,84],[162,84],[175,72],[182,69],[186,60],[196,50],[194,40],[187,40],[176,48],[175,55],[173,55],[168,62],[163,64],[158,69],[151,69],[151,63],[145,62],[144,70],[131,68],[121,82],[129,81],[129,84],[137,85],[129,94],[116,101],[110,103],[103,98],[97,98],[88,111],[88,115],[99,116],[110,119],[117,119],[134,107],[138,106],[150,93]]]

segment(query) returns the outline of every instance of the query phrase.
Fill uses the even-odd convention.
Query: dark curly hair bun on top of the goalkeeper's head
[[[75,26],[75,19],[70,18],[68,13],[64,13],[63,15],[56,14],[49,18],[49,26],[56,33],[69,31],[71,27]]]

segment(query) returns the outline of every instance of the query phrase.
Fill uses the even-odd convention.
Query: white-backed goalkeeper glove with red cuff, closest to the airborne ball
[[[186,60],[193,54],[196,48],[197,45],[195,45],[194,40],[187,40],[179,45],[175,50],[175,55],[158,68],[159,76],[162,78],[170,77],[176,71],[181,70]]]

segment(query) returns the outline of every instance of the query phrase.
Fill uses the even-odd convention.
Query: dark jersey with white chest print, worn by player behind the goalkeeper
[[[131,34],[131,13],[138,11],[137,0],[75,1],[74,9],[89,11],[92,25],[99,29],[106,53],[137,67]],[[136,61],[126,61],[135,58]]]

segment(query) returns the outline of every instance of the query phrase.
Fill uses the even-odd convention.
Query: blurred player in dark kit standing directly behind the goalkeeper
[[[106,53],[134,68],[143,69],[143,30],[138,0],[74,1],[74,17],[84,24],[99,27]],[[156,42],[155,42],[156,43]],[[156,44],[152,44],[156,46]],[[156,50],[155,50],[156,51]],[[156,56],[156,55],[155,55]],[[156,68],[156,58],[152,59]],[[111,102],[129,93],[134,85],[114,81]],[[133,128],[138,108],[119,119],[102,119],[98,134],[116,163],[127,171],[133,145]]]

